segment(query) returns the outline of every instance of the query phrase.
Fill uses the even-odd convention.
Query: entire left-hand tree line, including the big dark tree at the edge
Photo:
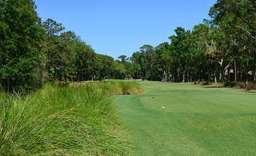
[[[124,79],[124,65],[100,55],[52,19],[42,21],[33,0],[0,0],[0,83],[31,90],[48,81]]]

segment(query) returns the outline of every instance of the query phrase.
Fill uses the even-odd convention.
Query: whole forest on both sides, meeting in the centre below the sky
[[[31,90],[48,81],[148,79],[256,82],[256,1],[218,0],[210,19],[176,28],[170,42],[132,57],[100,55],[63,24],[36,13],[33,0],[0,1],[0,83]]]

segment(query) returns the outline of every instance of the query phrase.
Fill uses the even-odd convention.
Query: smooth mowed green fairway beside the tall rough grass
[[[141,84],[146,94],[114,97],[134,146],[132,155],[256,155],[256,94]]]

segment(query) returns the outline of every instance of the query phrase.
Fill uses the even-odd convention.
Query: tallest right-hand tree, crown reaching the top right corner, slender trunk
[[[222,27],[223,32],[225,32],[227,35],[226,40],[230,40],[232,42],[230,49],[232,49],[233,52],[235,82],[237,82],[237,62],[240,52],[244,52],[246,46],[250,45],[247,44],[250,43],[248,41],[252,41],[251,39],[247,38],[245,34],[250,35],[250,38],[254,38],[256,36],[256,13],[254,12],[255,6],[255,1],[251,0],[218,0],[217,3],[211,7],[209,12],[209,15],[213,18],[213,23]],[[247,40],[247,42],[245,42],[245,40]],[[254,75],[256,81],[256,74]]]

